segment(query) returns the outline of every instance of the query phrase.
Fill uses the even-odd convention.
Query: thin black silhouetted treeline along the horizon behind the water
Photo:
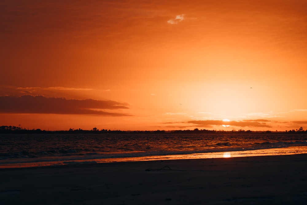
[[[155,131],[122,131],[122,130],[107,130],[107,129],[97,129],[94,127],[91,130],[83,130],[83,129],[72,129],[69,130],[58,130],[58,131],[49,131],[49,130],[41,130],[41,129],[25,129],[22,127],[16,127],[16,126],[1,126],[0,127],[0,133],[229,133],[229,132],[237,132],[237,133],[301,133],[301,134],[307,134],[307,130],[304,130],[302,127],[296,130],[286,130],[286,131],[251,131],[251,130],[231,130],[231,131],[225,131],[225,130],[206,130],[206,129],[194,129],[194,130],[155,130]]]

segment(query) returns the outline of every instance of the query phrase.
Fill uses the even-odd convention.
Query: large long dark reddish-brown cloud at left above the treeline
[[[102,116],[129,116],[126,113],[105,110],[128,109],[127,103],[100,101],[93,99],[67,100],[61,97],[47,98],[42,95],[0,96],[0,113],[40,113],[40,114],[85,114]]]

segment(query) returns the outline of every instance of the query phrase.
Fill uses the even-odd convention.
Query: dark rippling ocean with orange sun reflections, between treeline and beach
[[[0,168],[302,153],[305,132],[0,134]]]

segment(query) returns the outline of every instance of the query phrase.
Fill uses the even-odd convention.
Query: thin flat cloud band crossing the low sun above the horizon
[[[271,128],[272,126],[265,122],[271,122],[269,120],[248,120],[248,121],[229,121],[227,124],[238,127],[266,127]],[[199,127],[212,127],[212,125],[223,125],[223,120],[191,120],[188,123],[196,124]]]

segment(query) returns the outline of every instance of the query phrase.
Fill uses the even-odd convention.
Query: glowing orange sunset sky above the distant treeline
[[[305,130],[306,34],[301,0],[1,0],[0,125]]]

